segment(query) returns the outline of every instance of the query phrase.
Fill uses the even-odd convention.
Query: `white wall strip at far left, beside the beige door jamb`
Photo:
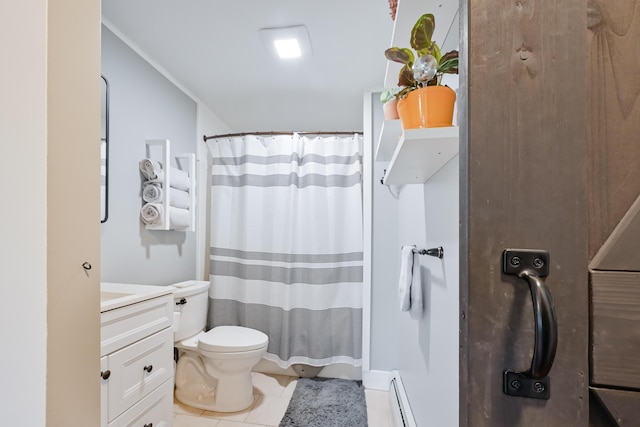
[[[46,19],[46,2],[0,2],[0,420],[7,425],[45,425]]]

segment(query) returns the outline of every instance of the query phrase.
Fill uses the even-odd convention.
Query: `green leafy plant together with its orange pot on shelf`
[[[441,84],[442,75],[458,73],[458,51],[442,55],[431,40],[436,22],[422,15],[411,30],[411,47],[391,47],[385,57],[403,64],[398,74],[398,113],[404,129],[451,126],[456,93]]]

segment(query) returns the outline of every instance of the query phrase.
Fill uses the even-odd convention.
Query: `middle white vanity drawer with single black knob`
[[[173,329],[166,328],[107,357],[111,421],[165,381],[173,384]]]

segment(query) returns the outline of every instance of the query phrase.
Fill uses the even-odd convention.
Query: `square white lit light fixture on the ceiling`
[[[261,28],[259,32],[264,47],[274,58],[290,59],[311,55],[311,41],[304,25]]]

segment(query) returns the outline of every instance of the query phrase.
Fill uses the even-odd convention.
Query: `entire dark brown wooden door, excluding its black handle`
[[[639,425],[640,0],[463,2],[461,22],[460,424]],[[505,248],[550,253],[548,400],[503,392],[535,335]]]

